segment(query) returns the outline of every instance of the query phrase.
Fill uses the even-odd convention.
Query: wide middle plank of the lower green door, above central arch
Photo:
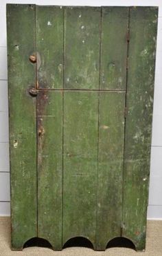
[[[97,115],[97,92],[65,92],[63,244],[77,236],[95,243]]]

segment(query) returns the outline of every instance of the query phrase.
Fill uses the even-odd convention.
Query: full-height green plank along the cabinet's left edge
[[[7,5],[8,87],[10,99],[10,170],[12,248],[37,235],[36,206],[36,99],[34,48],[35,6]]]

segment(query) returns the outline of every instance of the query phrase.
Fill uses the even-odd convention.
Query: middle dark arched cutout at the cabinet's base
[[[64,244],[63,249],[67,247],[86,247],[93,249],[93,244],[86,237],[72,237]]]

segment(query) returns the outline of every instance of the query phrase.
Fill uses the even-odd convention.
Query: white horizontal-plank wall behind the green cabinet
[[[161,0],[0,0],[0,215],[10,215],[10,164],[8,144],[8,77],[6,3],[58,6],[159,6],[157,62],[150,168],[148,219],[162,219],[162,1]]]

